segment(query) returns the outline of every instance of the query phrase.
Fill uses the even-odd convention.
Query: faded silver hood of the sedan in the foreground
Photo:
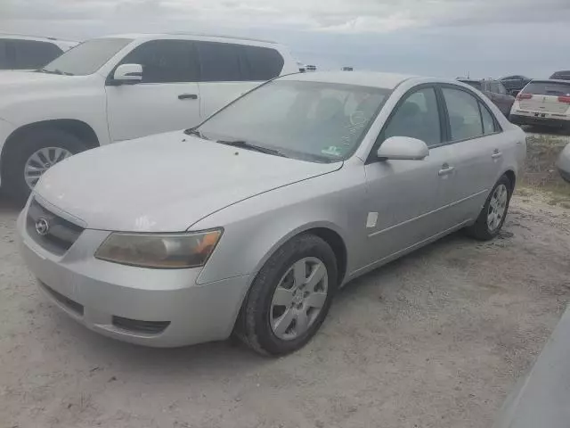
[[[180,232],[228,205],[341,166],[252,152],[179,131],[77,154],[49,169],[35,193],[89,228]]]

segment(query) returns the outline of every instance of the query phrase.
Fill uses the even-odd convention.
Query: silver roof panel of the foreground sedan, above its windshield
[[[297,80],[304,82],[338,83],[356,86],[372,86],[394,89],[403,81],[419,78],[406,74],[380,73],[376,71],[315,71],[311,73],[294,73],[279,78],[280,80]]]

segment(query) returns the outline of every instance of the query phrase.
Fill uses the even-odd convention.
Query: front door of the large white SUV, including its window
[[[191,128],[199,124],[199,65],[191,40],[152,40],[120,64],[141,64],[142,82],[105,90],[112,141]]]

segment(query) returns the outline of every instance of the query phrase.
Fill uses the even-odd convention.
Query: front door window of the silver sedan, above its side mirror
[[[432,147],[442,143],[442,131],[437,110],[436,90],[426,87],[414,92],[401,103],[387,127],[382,139],[390,136],[411,136]]]

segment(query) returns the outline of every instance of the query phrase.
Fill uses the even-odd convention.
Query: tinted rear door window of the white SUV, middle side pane
[[[242,75],[240,45],[231,43],[196,42],[198,45],[200,78],[203,82],[234,82],[246,80]]]

